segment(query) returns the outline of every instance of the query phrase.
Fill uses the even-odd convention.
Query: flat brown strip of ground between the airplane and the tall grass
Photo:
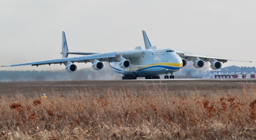
[[[101,95],[102,91],[141,92],[145,90],[168,90],[169,92],[216,93],[218,91],[241,90],[243,86],[256,84],[256,79],[139,79],[109,81],[51,81],[51,82],[0,82],[0,96],[12,97],[16,93],[33,97],[41,94],[74,94],[89,91]]]

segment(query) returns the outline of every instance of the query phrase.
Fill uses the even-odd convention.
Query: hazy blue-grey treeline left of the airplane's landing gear
[[[122,75],[111,71],[95,71],[91,69],[67,71],[0,71],[0,82],[20,81],[80,81],[80,80],[115,80]]]

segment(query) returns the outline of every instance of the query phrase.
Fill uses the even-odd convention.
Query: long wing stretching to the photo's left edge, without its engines
[[[68,61],[72,63],[74,62],[87,63],[87,62],[90,62],[91,59],[97,59],[101,62],[118,62],[116,58],[120,55],[122,55],[124,58],[140,57],[143,55],[143,52],[142,50],[133,50],[133,51],[123,51],[123,52],[112,52],[112,53],[99,53],[99,54],[92,54],[92,55],[79,56],[79,57],[68,57],[68,58],[29,62],[29,63],[2,65],[1,67],[22,66],[22,65],[31,65],[31,66],[47,65],[47,64],[51,65],[51,64],[62,64]]]

